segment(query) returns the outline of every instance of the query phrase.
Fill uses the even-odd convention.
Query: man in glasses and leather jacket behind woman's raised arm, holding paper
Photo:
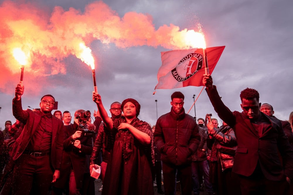
[[[110,105],[110,113],[111,113],[111,119],[117,119],[121,117],[122,109],[121,109],[121,103],[120,102],[113,102]],[[100,118],[100,117],[96,117]],[[113,146],[114,143],[114,138],[108,137],[108,134],[105,133],[104,131],[104,124],[102,123],[99,127],[98,134],[96,137],[96,140],[93,145],[93,151],[91,154],[91,159],[90,159],[90,173],[93,170],[93,167],[95,167],[95,164],[97,164],[97,160],[99,157],[99,153],[102,149],[102,163],[101,163],[101,179],[102,182],[104,181],[105,178],[105,172],[107,168],[107,163],[108,159],[110,157],[110,148]],[[100,187],[99,191],[103,190],[103,184]]]

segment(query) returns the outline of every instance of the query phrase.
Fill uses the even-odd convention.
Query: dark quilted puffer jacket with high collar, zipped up
[[[156,146],[161,152],[161,160],[173,165],[191,163],[191,155],[200,142],[195,119],[183,111],[171,112],[159,117],[154,132]]]

